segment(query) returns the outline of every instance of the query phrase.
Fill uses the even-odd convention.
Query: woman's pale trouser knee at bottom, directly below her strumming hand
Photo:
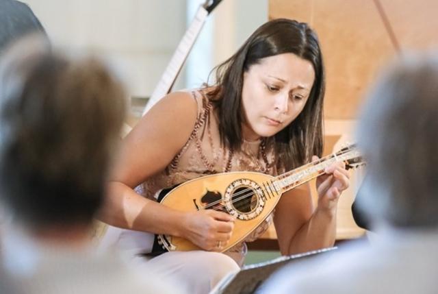
[[[190,294],[207,294],[222,278],[240,270],[233,258],[218,252],[167,252],[149,260],[137,256],[133,261]]]

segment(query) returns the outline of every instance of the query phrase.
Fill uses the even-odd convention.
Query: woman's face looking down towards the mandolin
[[[242,103],[246,140],[283,130],[304,108],[315,71],[311,62],[293,53],[262,58],[244,73]]]

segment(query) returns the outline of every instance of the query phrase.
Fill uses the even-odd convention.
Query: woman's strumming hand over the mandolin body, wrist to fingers
[[[183,238],[208,251],[222,252],[233,234],[234,218],[225,212],[199,210],[187,212],[183,219]]]

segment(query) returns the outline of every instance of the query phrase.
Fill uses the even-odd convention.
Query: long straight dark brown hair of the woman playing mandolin
[[[274,135],[277,165],[286,169],[307,162],[313,154],[322,154],[322,108],[325,91],[322,53],[315,32],[306,24],[289,19],[275,19],[261,25],[231,58],[216,66],[216,82],[207,93],[219,118],[223,145],[240,149],[243,141],[243,76],[262,58],[294,53],[311,62],[315,81],[305,108],[281,132]]]

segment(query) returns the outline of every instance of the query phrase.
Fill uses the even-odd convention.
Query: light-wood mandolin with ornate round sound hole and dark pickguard
[[[345,162],[346,169],[363,162],[355,145],[305,164],[276,177],[250,171],[217,173],[198,177],[163,190],[158,201],[185,212],[214,209],[235,217],[233,234],[222,252],[244,241],[274,210],[283,193],[322,175],[333,162]],[[151,254],[168,251],[201,250],[185,238],[156,234]]]

